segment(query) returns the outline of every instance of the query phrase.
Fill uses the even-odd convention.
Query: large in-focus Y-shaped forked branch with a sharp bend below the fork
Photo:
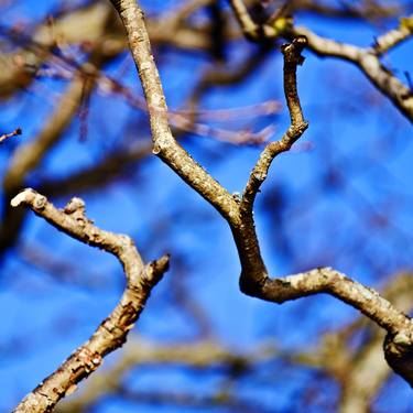
[[[256,166],[257,176],[253,173],[251,174],[243,197],[239,200],[230,197],[228,192],[195,163],[173,139],[167,123],[167,109],[161,80],[151,55],[143,12],[134,0],[111,1],[127,29],[130,48],[145,94],[153,134],[153,152],[213,204],[229,222],[241,262],[241,291],[248,295],[279,304],[307,295],[326,293],[354,306],[388,332],[384,351],[388,360],[393,361],[392,363],[389,361],[389,363],[395,372],[413,384],[413,372],[410,368],[405,369],[406,366],[413,365],[410,351],[413,348],[413,325],[410,317],[393,307],[373,290],[330,268],[316,269],[283,279],[270,279],[261,256],[254,229],[252,205],[273,157],[291,148],[307,127],[297,99],[295,69],[297,64],[302,63],[301,51],[304,44],[307,43],[308,37],[298,36],[291,45],[283,48],[285,61],[284,89],[291,116],[291,127],[284,137],[284,142],[281,139],[281,141],[274,142],[272,146],[270,144],[265,149],[267,151],[264,150],[261,154]],[[237,7],[242,7],[243,3],[242,1],[232,1],[231,4],[237,12]],[[244,20],[242,13],[238,15],[241,22]],[[314,39],[311,36],[308,44],[311,40]],[[317,41],[323,40],[317,37]],[[346,53],[347,51],[349,52],[348,59],[359,58],[357,47],[347,47],[347,45],[339,45],[336,42],[330,42],[328,45],[333,46],[332,54],[337,54],[337,52],[344,50]],[[352,56],[354,52],[356,52],[356,56]],[[368,53],[366,56],[365,58],[369,63],[371,63],[372,58],[376,58],[378,64],[380,64],[378,57],[372,53]],[[360,59],[359,62],[361,65],[363,61]],[[369,72],[369,76],[373,76],[373,74]],[[381,85],[383,72],[380,70],[378,76],[380,78],[378,83]],[[393,80],[391,75],[388,76]],[[392,96],[390,91],[388,96]],[[407,107],[400,107],[400,109],[405,112]],[[395,361],[394,357],[396,358]]]

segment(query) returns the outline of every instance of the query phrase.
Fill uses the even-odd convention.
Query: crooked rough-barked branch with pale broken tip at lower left
[[[85,215],[85,204],[80,198],[73,198],[64,209],[57,209],[45,196],[33,189],[24,189],[11,204],[13,207],[26,205],[66,235],[116,256],[127,278],[127,287],[108,318],[14,410],[19,413],[51,412],[62,398],[76,390],[79,381],[101,365],[106,355],[123,345],[151,290],[167,270],[169,257],[144,264],[131,238],[105,231],[91,224]]]

